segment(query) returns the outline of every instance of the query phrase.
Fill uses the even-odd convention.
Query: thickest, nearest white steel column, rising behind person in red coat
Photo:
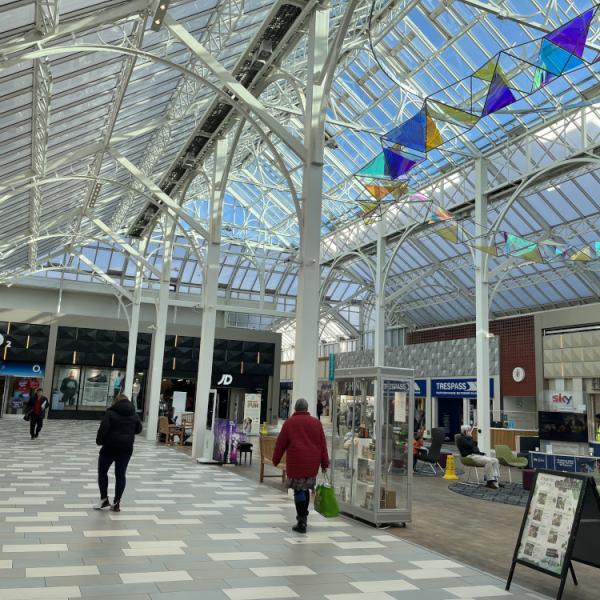
[[[325,68],[329,37],[329,8],[315,9],[308,32],[308,76],[302,174],[302,220],[300,222],[300,268],[296,304],[296,351],[294,401],[305,398],[316,414],[319,360],[319,288],[321,284],[321,205],[323,202],[323,144],[326,83]]]

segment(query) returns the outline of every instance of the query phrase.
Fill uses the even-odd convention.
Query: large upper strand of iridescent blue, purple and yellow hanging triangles
[[[428,96],[416,115],[382,137],[383,151],[355,173],[356,177],[406,179],[429,151],[457,138],[481,118],[567,72],[600,60],[600,53],[586,48],[599,8],[590,8],[544,37],[500,51],[472,75]],[[514,75],[509,76],[511,73]],[[445,124],[459,132],[446,130],[442,136],[440,129]]]

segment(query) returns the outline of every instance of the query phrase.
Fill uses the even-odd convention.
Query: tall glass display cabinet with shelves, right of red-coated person
[[[374,525],[411,520],[412,369],[335,373],[332,484],[340,510]]]

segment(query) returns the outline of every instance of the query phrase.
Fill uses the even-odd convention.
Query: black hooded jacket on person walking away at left
[[[131,454],[135,434],[141,433],[142,422],[129,400],[119,400],[105,413],[96,435],[100,454]]]

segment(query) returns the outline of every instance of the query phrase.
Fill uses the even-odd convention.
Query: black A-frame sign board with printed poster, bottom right
[[[506,582],[517,565],[560,579],[562,597],[573,561],[600,568],[600,496],[593,477],[540,470],[536,473]]]

